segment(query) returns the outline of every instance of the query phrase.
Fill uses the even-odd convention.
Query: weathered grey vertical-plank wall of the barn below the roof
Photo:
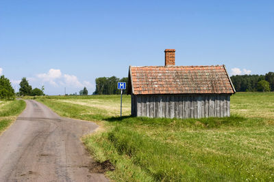
[[[229,117],[230,95],[132,95],[132,116]]]

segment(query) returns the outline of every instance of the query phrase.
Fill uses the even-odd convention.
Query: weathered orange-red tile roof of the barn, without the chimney
[[[225,65],[129,66],[127,93],[235,93]]]

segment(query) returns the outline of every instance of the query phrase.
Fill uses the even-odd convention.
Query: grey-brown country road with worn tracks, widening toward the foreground
[[[90,173],[79,140],[95,123],[66,119],[34,100],[0,136],[0,181],[108,181]]]

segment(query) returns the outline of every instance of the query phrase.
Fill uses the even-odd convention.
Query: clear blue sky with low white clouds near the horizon
[[[49,95],[95,91],[129,65],[274,71],[274,1],[0,1],[0,74]],[[16,86],[17,85],[17,86]]]

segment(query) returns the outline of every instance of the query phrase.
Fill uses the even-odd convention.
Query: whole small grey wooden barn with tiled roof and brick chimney
[[[225,65],[176,66],[175,50],[164,52],[164,66],[129,66],[133,117],[230,116],[236,91]]]

